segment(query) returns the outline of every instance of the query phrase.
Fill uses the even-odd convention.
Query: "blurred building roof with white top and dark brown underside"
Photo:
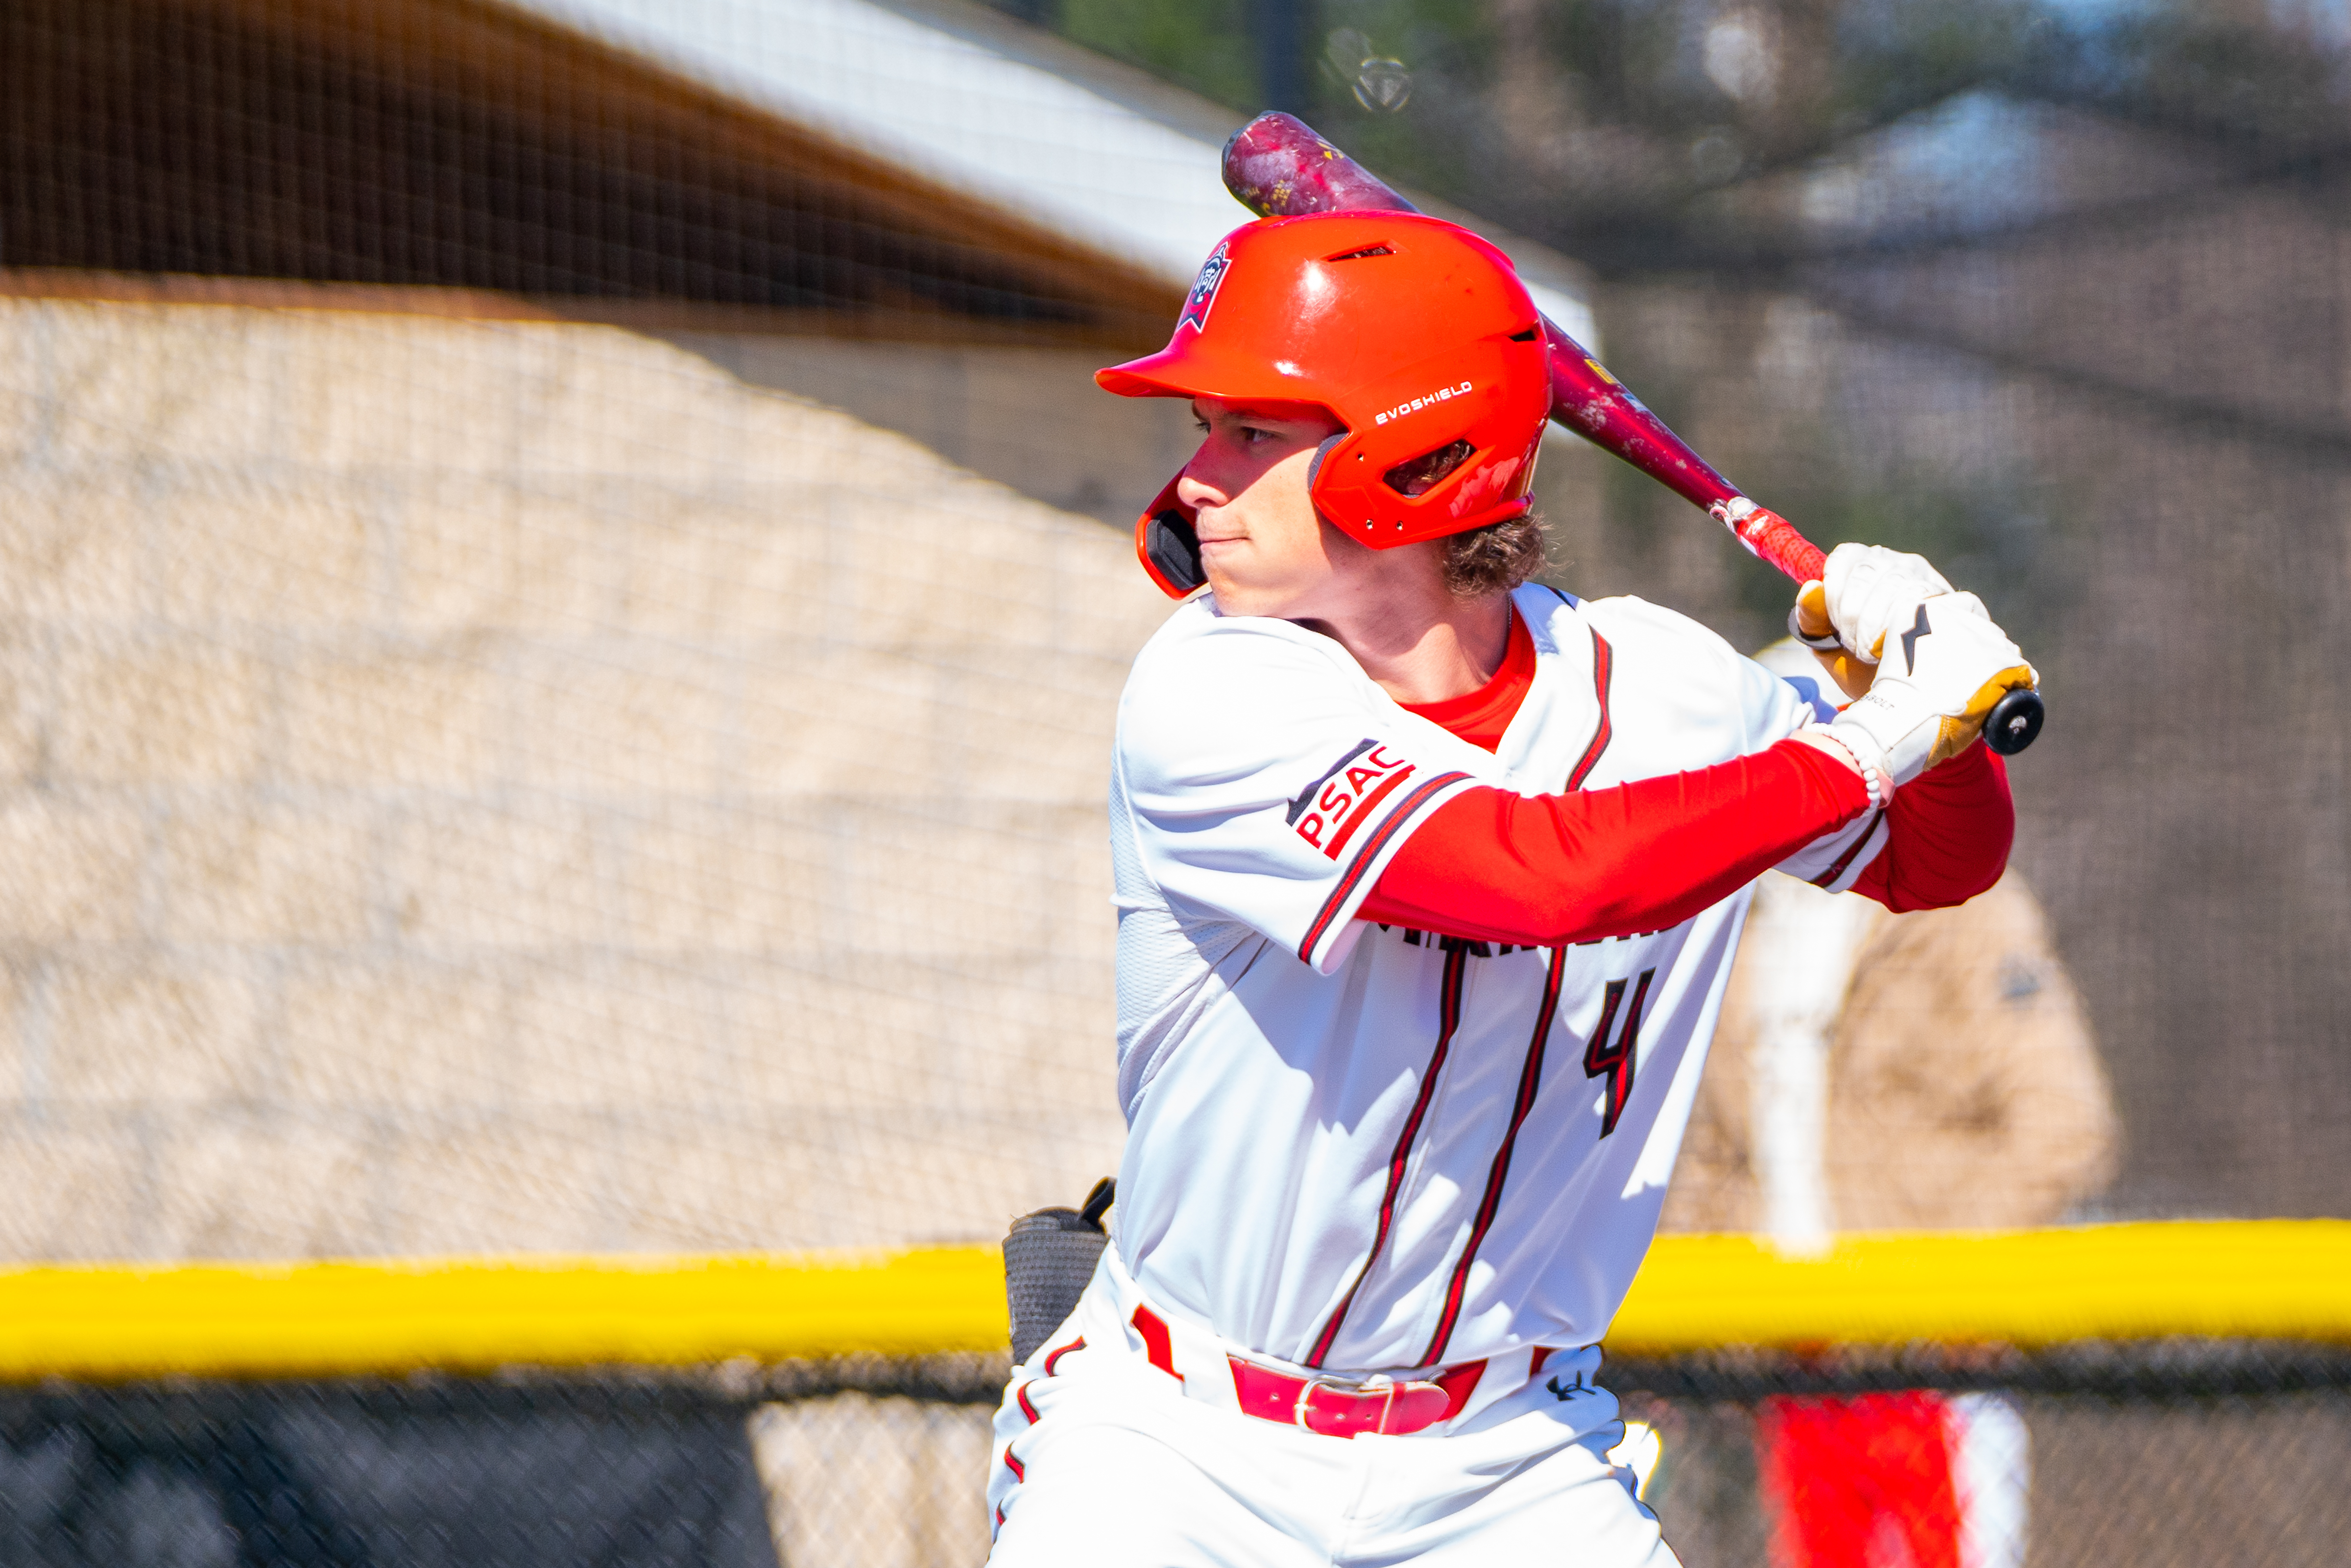
[[[1154,348],[1244,219],[1218,179],[1239,115],[919,7],[14,0],[0,289],[395,284],[477,315]],[[1502,240],[1580,331],[1575,270]]]

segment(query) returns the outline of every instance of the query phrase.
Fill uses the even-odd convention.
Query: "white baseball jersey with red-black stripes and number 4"
[[[1230,1345],[1331,1371],[1592,1345],[1648,1251],[1747,893],[1509,950],[1354,919],[1474,785],[1603,788],[1759,752],[1806,696],[1641,599],[1514,595],[1535,675],[1495,752],[1333,639],[1178,609],[1119,705],[1117,1248]],[[1784,870],[1850,886],[1862,816]]]

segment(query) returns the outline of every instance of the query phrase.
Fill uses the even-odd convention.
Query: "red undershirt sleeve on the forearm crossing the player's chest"
[[[1469,790],[1406,839],[1357,914],[1531,947],[1662,931],[1867,809],[1853,769],[1791,741],[1613,790]]]

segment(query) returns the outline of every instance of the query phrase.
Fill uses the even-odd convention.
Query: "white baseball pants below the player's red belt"
[[[1538,1378],[1526,1352],[1495,1361],[1427,1432],[1321,1436],[1244,1415],[1197,1328],[1180,1382],[1152,1366],[1114,1253],[997,1410],[992,1568],[1676,1568],[1606,1458],[1622,1425],[1589,1380],[1599,1352],[1556,1352]]]

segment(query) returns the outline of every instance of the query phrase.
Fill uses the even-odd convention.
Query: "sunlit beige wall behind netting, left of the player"
[[[0,1255],[1112,1166],[1110,529],[614,329],[0,301]]]

